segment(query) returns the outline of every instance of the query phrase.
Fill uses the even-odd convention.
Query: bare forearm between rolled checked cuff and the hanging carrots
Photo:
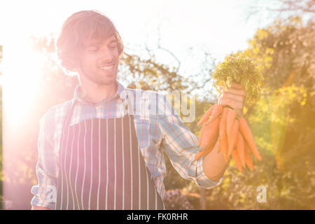
[[[222,152],[218,153],[218,145],[219,141],[216,142],[216,146],[214,149],[203,158],[203,169],[204,174],[211,181],[219,181],[223,176],[225,169],[228,167],[228,163],[225,162],[224,156]]]

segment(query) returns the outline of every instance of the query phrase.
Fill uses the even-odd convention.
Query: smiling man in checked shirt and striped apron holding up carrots
[[[162,150],[197,186],[221,183],[228,165],[218,144],[195,161],[197,137],[166,97],[118,82],[123,42],[106,16],[74,13],[56,47],[61,66],[78,73],[80,84],[72,100],[40,120],[32,209],[165,209]],[[244,88],[233,83],[220,101],[241,115],[244,97]]]

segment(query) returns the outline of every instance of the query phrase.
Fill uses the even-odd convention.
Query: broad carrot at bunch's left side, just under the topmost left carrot
[[[202,137],[201,151],[216,143],[219,123],[219,118],[216,118],[211,124],[207,125],[204,130],[204,137]]]

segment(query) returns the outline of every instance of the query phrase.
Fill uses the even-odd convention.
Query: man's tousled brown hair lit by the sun
[[[113,22],[97,10],[82,10],[73,13],[62,25],[56,41],[57,56],[66,71],[77,71],[78,55],[83,44],[90,38],[102,40],[115,36],[118,41],[118,52],[123,52],[123,41]]]

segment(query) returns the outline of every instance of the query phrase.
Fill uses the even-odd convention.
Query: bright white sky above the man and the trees
[[[264,1],[264,6],[267,5]],[[29,36],[56,35],[62,22],[78,10],[96,9],[114,22],[126,52],[148,57],[146,48],[160,62],[177,66],[185,76],[200,71],[204,52],[223,60],[225,55],[247,48],[248,39],[269,17],[246,20],[255,0],[171,1],[1,1],[0,45],[3,57],[13,48],[25,48]],[[157,49],[160,45],[171,51]],[[15,57],[10,55],[10,57]]]

